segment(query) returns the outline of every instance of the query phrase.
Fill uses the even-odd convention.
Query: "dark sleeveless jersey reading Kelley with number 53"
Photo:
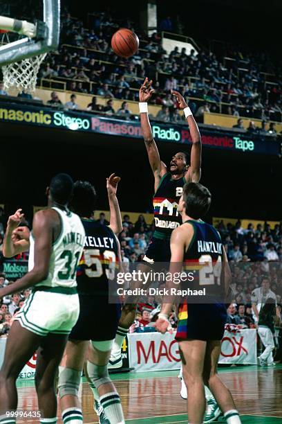
[[[109,280],[118,268],[118,242],[110,227],[82,219],[86,238],[77,268],[78,294],[107,296]]]

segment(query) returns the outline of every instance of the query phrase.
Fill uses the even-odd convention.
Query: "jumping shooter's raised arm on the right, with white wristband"
[[[187,103],[185,102],[184,97],[178,91],[174,90],[171,90],[171,94],[173,94],[173,96],[176,96],[180,109],[184,110],[186,121],[189,125],[189,131],[191,134],[191,162],[187,173],[185,174],[185,179],[187,182],[199,182],[201,175],[200,166],[202,164],[202,141],[200,139],[200,131],[198,129],[198,125],[194,119],[194,116],[191,114],[191,111]]]

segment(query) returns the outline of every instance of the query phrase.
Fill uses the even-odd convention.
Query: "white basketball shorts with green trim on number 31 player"
[[[35,291],[15,316],[23,328],[46,336],[69,334],[79,316],[78,294]]]

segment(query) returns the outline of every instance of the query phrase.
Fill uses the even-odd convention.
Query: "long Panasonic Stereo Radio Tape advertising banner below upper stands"
[[[109,134],[111,136],[142,138],[139,121],[122,121],[85,112],[71,112],[55,110],[50,107],[32,107],[18,104],[0,103],[0,123],[18,123],[21,125],[35,125],[46,128],[62,128],[62,130],[77,132],[93,132]],[[151,122],[153,136],[157,141],[172,143],[191,143],[191,136],[187,125],[174,125]],[[237,152],[259,154],[281,154],[281,145],[272,136],[258,136],[234,133],[227,129],[212,129],[201,126],[202,142],[208,148],[219,148]]]

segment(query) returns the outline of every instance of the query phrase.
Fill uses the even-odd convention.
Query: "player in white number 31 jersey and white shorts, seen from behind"
[[[35,214],[30,241],[13,246],[12,231],[22,214],[17,211],[8,221],[3,254],[30,248],[29,272],[0,289],[0,297],[32,288],[30,297],[12,324],[0,371],[0,423],[15,423],[6,413],[17,409],[16,380],[23,366],[37,351],[35,387],[40,423],[57,423],[55,376],[62,360],[68,335],[79,315],[76,269],[84,247],[85,231],[75,213],[68,211],[73,180],[58,174],[46,191],[48,209]],[[14,249],[14,251],[13,251]]]

